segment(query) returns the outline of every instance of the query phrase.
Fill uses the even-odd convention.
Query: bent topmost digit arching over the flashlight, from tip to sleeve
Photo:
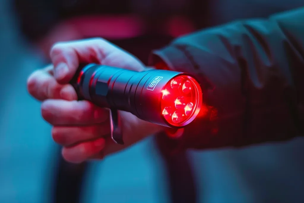
[[[59,83],[73,78],[79,63],[97,63],[143,71],[144,65],[133,55],[102,38],[59,42],[50,51],[54,76]]]

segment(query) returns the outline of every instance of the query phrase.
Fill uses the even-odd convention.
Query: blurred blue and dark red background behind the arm
[[[175,37],[267,17],[303,0],[1,0],[0,203],[304,202],[304,139],[171,156],[152,136],[94,163],[69,164],[26,92],[52,44],[104,37],[144,63]],[[303,22],[304,23],[304,22]]]

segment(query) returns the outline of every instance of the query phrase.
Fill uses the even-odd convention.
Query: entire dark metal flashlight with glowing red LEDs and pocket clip
[[[183,128],[199,114],[202,89],[193,76],[169,70],[136,72],[82,65],[72,80],[80,99],[110,109],[112,139],[123,144],[118,110],[170,128]]]

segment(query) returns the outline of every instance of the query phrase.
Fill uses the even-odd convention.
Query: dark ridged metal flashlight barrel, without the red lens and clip
[[[79,69],[72,83],[81,99],[97,106],[123,110],[155,124],[172,126],[161,114],[161,91],[174,77],[185,75],[168,70],[136,72],[105,65],[88,64]],[[193,120],[193,119],[192,119]]]

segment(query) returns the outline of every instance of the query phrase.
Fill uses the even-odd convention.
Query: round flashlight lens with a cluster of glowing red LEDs
[[[161,109],[164,119],[173,126],[183,126],[198,114],[202,103],[199,83],[188,75],[171,79],[162,90]]]

